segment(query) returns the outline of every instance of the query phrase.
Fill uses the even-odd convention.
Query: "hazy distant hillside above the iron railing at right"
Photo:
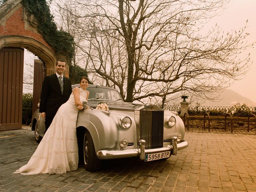
[[[237,103],[247,104],[248,106],[255,107],[256,103],[252,102],[250,99],[234,92],[233,90],[226,89],[224,92],[220,94],[220,98],[222,98],[219,102],[212,102],[208,100],[198,100],[201,105],[209,105],[209,106],[233,106]]]

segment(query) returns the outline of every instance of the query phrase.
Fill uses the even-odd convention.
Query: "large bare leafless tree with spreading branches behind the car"
[[[69,0],[88,72],[120,90],[126,102],[190,92],[209,93],[242,78],[250,58],[245,27],[205,31],[229,0]],[[68,6],[67,6],[68,3]],[[100,79],[100,80],[99,80]]]

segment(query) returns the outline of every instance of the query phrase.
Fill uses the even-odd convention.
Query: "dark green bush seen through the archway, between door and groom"
[[[22,95],[22,124],[29,125],[32,118],[33,94],[24,93]]]

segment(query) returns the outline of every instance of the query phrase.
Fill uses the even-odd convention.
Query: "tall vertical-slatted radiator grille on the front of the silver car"
[[[146,149],[163,147],[164,111],[140,111],[140,138],[146,141]]]

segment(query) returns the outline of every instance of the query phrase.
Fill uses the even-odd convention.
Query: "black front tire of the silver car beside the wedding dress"
[[[101,166],[101,160],[96,156],[92,136],[88,130],[84,132],[83,149],[84,167],[86,168],[86,170],[99,170]]]

